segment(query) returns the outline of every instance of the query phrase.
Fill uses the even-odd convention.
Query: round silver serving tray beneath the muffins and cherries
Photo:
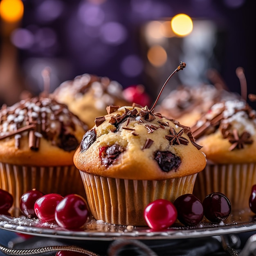
[[[242,212],[232,212],[227,220],[219,224],[209,222],[204,218],[194,227],[185,227],[177,221],[166,230],[154,231],[149,227],[111,225],[93,218],[81,229],[67,230],[56,223],[43,223],[38,219],[29,219],[24,216],[14,218],[0,215],[0,229],[32,236],[74,240],[183,239],[255,231],[256,216],[247,209]]]

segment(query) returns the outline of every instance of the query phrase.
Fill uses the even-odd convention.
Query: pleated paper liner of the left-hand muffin
[[[65,196],[76,193],[85,197],[83,182],[75,166],[38,167],[0,163],[0,188],[13,195],[15,212],[20,209],[21,195],[34,188],[45,194]]]

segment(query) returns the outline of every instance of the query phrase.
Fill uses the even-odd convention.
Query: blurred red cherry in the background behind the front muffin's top
[[[141,106],[150,105],[150,97],[146,94],[143,85],[131,85],[124,89],[123,94],[127,101],[137,103]]]

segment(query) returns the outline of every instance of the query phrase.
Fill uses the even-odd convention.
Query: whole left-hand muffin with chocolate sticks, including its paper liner
[[[46,97],[22,100],[0,110],[0,188],[20,205],[23,193],[85,195],[73,155],[88,130],[67,106]]]

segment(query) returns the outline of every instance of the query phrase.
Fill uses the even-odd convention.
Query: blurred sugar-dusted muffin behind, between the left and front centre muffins
[[[117,81],[83,74],[73,81],[63,82],[54,90],[52,97],[66,104],[71,112],[92,128],[95,117],[107,114],[107,106],[126,106],[129,103],[122,92],[123,88]]]

